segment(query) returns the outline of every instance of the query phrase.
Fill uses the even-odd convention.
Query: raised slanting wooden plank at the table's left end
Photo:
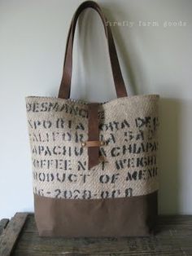
[[[0,256],[9,256],[11,254],[27,216],[28,214],[26,213],[17,213],[11,218],[11,221],[0,236]]]

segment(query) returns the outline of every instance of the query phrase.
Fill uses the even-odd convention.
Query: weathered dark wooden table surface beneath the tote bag
[[[192,255],[192,216],[159,216],[157,229],[145,238],[42,238],[34,215],[19,213],[0,222],[0,255]]]

